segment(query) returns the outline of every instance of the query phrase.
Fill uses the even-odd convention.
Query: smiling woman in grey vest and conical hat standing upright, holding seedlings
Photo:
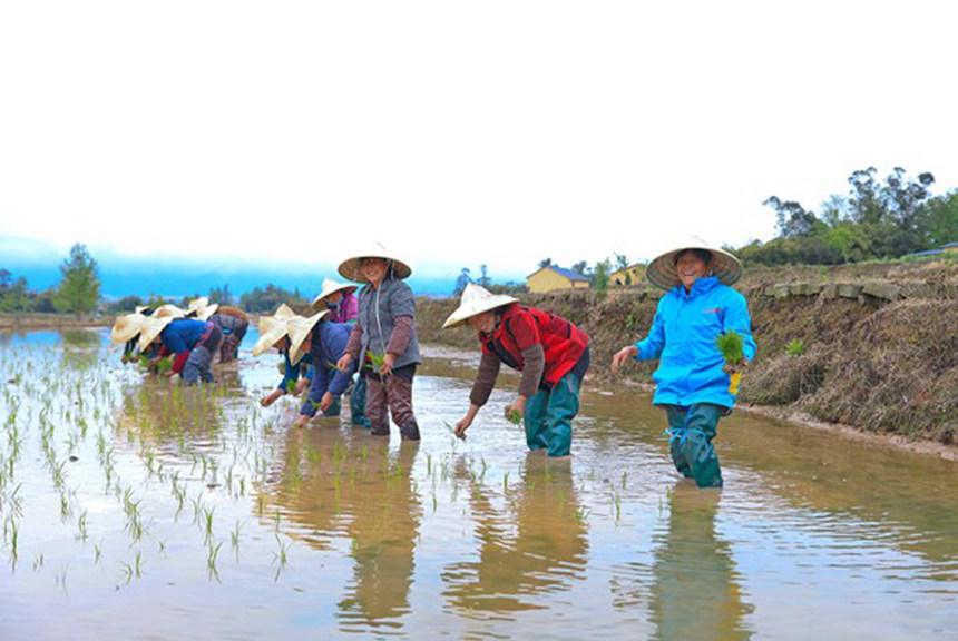
[[[421,361],[416,298],[403,283],[412,269],[377,243],[368,252],[343,260],[339,273],[365,287],[359,294],[356,323],[345,354],[336,366],[348,371],[363,355],[359,369],[366,382],[365,417],[373,435],[389,435],[388,411],[404,440],[419,441],[412,410],[412,379]],[[370,354],[381,356],[382,362],[373,365]]]

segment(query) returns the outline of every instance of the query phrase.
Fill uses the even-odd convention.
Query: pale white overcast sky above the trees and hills
[[[958,186],[952,2],[0,3],[0,240],[531,273]],[[33,241],[31,245],[30,241]],[[360,252],[361,253],[361,252]]]

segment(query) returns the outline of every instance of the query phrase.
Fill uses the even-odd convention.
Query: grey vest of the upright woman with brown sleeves
[[[394,368],[421,362],[419,337],[416,333],[416,297],[409,285],[398,278],[387,278],[378,289],[369,285],[362,288],[356,316],[363,331],[360,359],[365,358],[366,351],[378,355],[385,354],[395,319],[401,316],[412,318],[412,336],[403,353],[395,359]]]

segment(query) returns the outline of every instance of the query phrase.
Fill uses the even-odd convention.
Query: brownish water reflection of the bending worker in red
[[[487,492],[478,483],[470,484],[479,560],[447,568],[446,596],[469,611],[544,608],[534,598],[568,590],[569,581],[586,565],[586,522],[571,472],[568,466],[530,460],[512,503],[515,512],[497,511]]]

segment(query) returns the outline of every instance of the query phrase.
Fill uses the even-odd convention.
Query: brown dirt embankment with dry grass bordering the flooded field
[[[958,260],[753,270],[736,287],[759,344],[741,403],[958,452]],[[525,302],[588,332],[590,374],[602,378],[610,376],[612,355],[645,335],[658,298],[642,288]],[[420,300],[420,339],[475,349],[469,329],[441,329],[456,306]],[[639,364],[626,377],[648,382],[656,365]]]

